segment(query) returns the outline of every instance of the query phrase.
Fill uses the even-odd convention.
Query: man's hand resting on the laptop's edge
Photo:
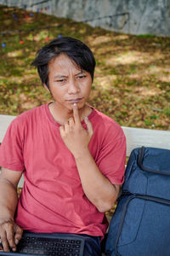
[[[22,233],[23,230],[12,219],[0,220],[0,238],[3,244],[0,251],[10,252],[12,249],[15,252]]]

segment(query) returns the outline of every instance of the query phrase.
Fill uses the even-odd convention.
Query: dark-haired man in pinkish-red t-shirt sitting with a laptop
[[[105,212],[123,182],[125,136],[114,120],[86,103],[95,67],[87,45],[54,39],[32,65],[54,102],[20,114],[0,147],[2,249],[15,251],[22,230],[29,230],[87,235],[85,255],[100,255]]]

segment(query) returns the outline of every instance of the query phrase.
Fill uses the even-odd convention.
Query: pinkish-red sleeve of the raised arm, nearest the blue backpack
[[[126,161],[126,137],[120,127],[119,136],[107,132],[96,164],[111,183],[122,184]]]

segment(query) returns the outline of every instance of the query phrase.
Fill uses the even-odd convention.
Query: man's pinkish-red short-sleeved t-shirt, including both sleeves
[[[111,183],[122,184],[126,155],[122,128],[95,109],[88,119],[94,127],[89,150],[100,172]],[[86,128],[84,121],[82,125]],[[24,230],[105,234],[105,214],[84,194],[75,159],[59,135],[48,104],[20,114],[9,125],[0,147],[0,166],[24,171],[15,217]]]

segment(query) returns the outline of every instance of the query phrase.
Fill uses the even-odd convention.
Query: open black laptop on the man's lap
[[[74,234],[24,232],[15,253],[0,252],[7,256],[83,256],[85,237]]]

